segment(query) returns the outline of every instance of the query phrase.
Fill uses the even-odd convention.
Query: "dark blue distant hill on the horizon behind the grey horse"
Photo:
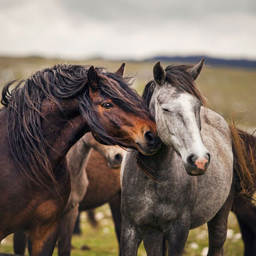
[[[205,57],[205,64],[210,66],[229,66],[238,68],[256,68],[256,60],[247,59],[222,59],[213,58],[208,56],[155,56],[152,58],[147,58],[145,61],[165,61],[165,62],[186,62],[186,63],[197,63],[203,57]]]

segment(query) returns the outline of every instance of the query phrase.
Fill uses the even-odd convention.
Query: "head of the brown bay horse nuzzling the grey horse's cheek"
[[[144,155],[152,155],[160,146],[156,123],[142,98],[122,77],[123,68],[124,63],[116,73],[99,74],[94,67],[88,70],[88,124],[101,143],[137,148]]]

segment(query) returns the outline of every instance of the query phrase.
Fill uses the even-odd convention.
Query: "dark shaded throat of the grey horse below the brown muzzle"
[[[161,148],[154,155],[140,155],[140,158],[147,173],[153,176],[155,179],[163,181],[170,175],[169,172],[168,174],[166,173],[165,166],[172,165],[175,154],[176,153],[172,147],[162,144]]]

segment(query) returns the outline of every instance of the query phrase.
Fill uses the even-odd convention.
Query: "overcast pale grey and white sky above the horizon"
[[[0,55],[256,59],[255,0],[0,0]]]

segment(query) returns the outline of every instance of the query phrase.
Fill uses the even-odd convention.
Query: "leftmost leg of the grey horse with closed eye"
[[[122,216],[123,217],[123,216]],[[129,221],[122,219],[121,253],[122,256],[136,256],[142,241],[143,232],[138,230]]]

